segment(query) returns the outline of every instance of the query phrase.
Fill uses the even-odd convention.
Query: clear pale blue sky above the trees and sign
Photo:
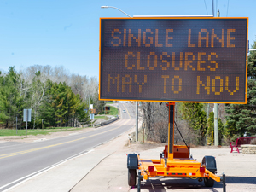
[[[212,15],[212,0],[0,0],[0,71],[33,65],[99,76],[99,19],[128,15]],[[221,17],[249,17],[256,40],[255,0],[214,0]]]

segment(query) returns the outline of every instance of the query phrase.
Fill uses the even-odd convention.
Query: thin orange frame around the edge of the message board
[[[99,34],[99,100],[102,101],[109,101],[112,98],[102,98],[102,20],[247,20],[247,34],[246,34],[246,44],[248,42],[248,17],[133,17],[133,18],[127,18],[127,17],[106,17],[106,18],[100,18],[100,34]],[[140,101],[140,102],[201,102],[201,103],[236,103],[236,104],[246,104],[247,103],[247,52],[248,52],[248,46],[246,45],[246,61],[245,61],[245,79],[244,79],[244,102],[221,102],[221,101],[172,101],[172,100],[152,100],[152,99],[129,99],[127,97],[125,98],[116,98],[114,97],[113,100],[115,101]]]

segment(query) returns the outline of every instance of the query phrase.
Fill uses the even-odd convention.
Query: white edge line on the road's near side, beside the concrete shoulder
[[[89,153],[92,152],[92,151],[94,151],[94,149],[91,149],[91,150],[88,151],[87,153],[84,153],[84,152],[86,152],[86,150],[84,150],[84,151],[80,152],[79,154],[74,154],[73,156],[70,156],[70,157],[68,157],[68,158],[65,159],[65,160],[61,160],[60,162],[55,163],[54,165],[45,167],[44,169],[41,169],[41,170],[39,170],[39,171],[37,171],[37,172],[33,172],[33,173],[31,173],[31,174],[29,174],[29,175],[27,175],[27,176],[25,176],[25,177],[21,177],[21,178],[19,178],[19,179],[13,181],[13,182],[11,182],[11,183],[7,183],[7,184],[3,185],[2,187],[0,187],[0,189],[6,188],[6,187],[8,187],[9,185],[11,185],[11,184],[13,184],[13,183],[17,183],[17,182],[19,182],[20,180],[25,179],[25,180],[23,180],[22,182],[17,183],[17,184],[15,184],[14,186],[10,187],[9,189],[3,190],[3,192],[9,191],[10,189],[14,189],[15,187],[19,186],[19,185],[22,184],[22,183],[25,183],[26,181],[28,181],[29,179],[32,179],[33,177],[37,177],[38,175],[41,175],[41,174],[44,173],[44,172],[48,172],[49,170],[55,168],[56,166],[61,166],[63,163],[66,163],[68,160],[72,160],[73,158],[79,157],[79,156],[81,156],[81,155],[83,155],[83,154],[89,154]]]

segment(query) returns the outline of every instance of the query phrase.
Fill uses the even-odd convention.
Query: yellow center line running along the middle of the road
[[[123,125],[127,124],[128,121],[129,121],[129,119],[128,119],[127,121],[125,121],[125,123],[124,123]],[[113,128],[113,129],[108,130],[108,131],[103,131],[103,132],[96,133],[96,134],[91,135],[91,136],[88,136],[88,137],[82,137],[82,138],[75,139],[75,140],[68,141],[68,142],[64,142],[64,143],[57,143],[57,144],[45,146],[45,147],[42,147],[42,148],[32,148],[32,149],[29,149],[29,150],[26,150],[26,151],[19,151],[19,152],[14,152],[14,153],[10,153],[10,154],[1,154],[1,155],[0,155],[0,160],[1,160],[1,159],[4,159],[4,158],[7,158],[7,157],[12,157],[12,156],[15,156],[15,155],[19,155],[19,154],[27,154],[27,153],[30,153],[30,152],[33,152],[33,151],[42,150],[42,149],[44,149],[44,148],[52,148],[52,147],[59,146],[59,145],[63,145],[63,144],[67,144],[67,143],[77,142],[77,141],[82,140],[82,139],[85,139],[85,138],[98,136],[98,135],[101,135],[101,134],[103,134],[103,133],[106,133],[106,132],[109,132],[109,131],[113,131],[113,130],[119,129],[121,126],[122,126],[122,125],[119,125],[119,127]]]

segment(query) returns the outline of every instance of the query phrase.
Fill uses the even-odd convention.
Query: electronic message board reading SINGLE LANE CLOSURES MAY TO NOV
[[[101,18],[100,99],[245,103],[248,18]]]

